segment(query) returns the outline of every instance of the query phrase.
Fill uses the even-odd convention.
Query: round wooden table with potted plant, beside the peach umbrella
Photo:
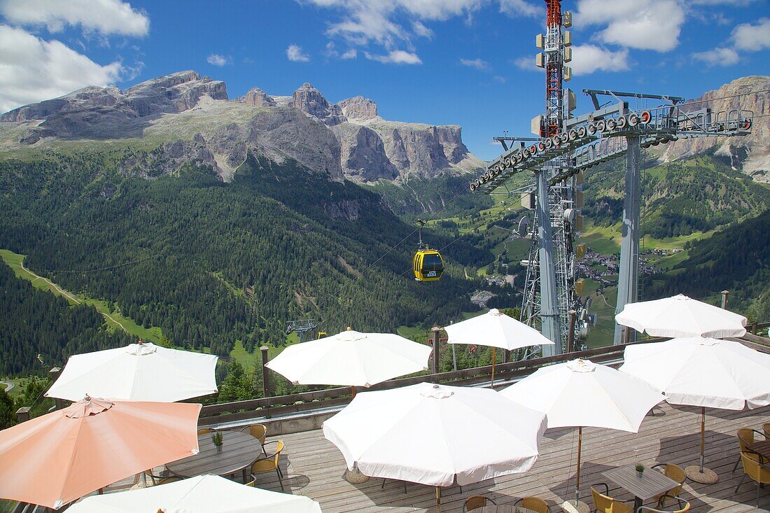
[[[230,475],[243,472],[243,482],[248,481],[249,468],[259,456],[262,456],[262,443],[248,432],[219,431],[222,433],[222,445],[217,448],[211,435],[198,435],[199,453],[166,464],[172,474],[190,478],[201,474]]]

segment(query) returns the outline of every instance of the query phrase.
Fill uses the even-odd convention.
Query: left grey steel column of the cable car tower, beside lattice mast
[[[548,205],[548,176],[537,173],[537,257],[540,261],[541,332],[554,345],[543,346],[543,356],[561,354],[559,310],[554,267],[554,241],[551,236],[551,209]]]

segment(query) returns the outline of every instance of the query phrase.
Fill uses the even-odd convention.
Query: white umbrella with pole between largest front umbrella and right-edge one
[[[665,399],[647,384],[591,360],[549,365],[500,391],[518,404],[547,414],[548,428],[577,427],[577,474],[573,506],[579,502],[583,428],[636,433],[644,416]],[[566,503],[565,503],[566,505]]]

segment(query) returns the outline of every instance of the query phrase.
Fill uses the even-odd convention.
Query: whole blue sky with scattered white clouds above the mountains
[[[768,0],[564,0],[567,86],[694,97],[770,73]],[[526,135],[544,108],[533,69],[542,0],[0,0],[0,110],[93,84],[125,89],[194,69],[230,98],[311,82],[386,119],[458,124],[470,150]],[[578,96],[577,112],[590,109]]]

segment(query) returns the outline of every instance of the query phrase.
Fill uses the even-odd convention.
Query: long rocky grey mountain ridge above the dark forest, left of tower
[[[330,103],[309,82],[292,96],[255,87],[231,100],[225,82],[185,71],[126,91],[89,86],[0,116],[0,152],[9,156],[75,142],[145,147],[153,158],[133,163],[139,176],[172,173],[192,161],[213,166],[228,181],[255,150],[359,183],[473,173],[484,166],[464,145],[460,126],[389,121],[371,99]]]

